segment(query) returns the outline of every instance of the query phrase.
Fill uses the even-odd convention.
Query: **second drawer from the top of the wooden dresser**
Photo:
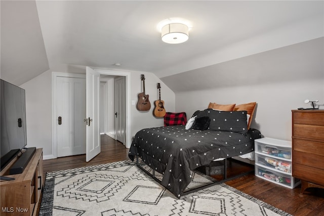
[[[293,125],[293,136],[307,137],[310,139],[324,139],[324,126],[318,125]]]

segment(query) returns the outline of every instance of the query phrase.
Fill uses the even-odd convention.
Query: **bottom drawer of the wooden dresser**
[[[324,170],[294,163],[293,176],[324,186]]]

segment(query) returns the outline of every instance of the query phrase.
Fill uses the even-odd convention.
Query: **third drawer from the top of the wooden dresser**
[[[324,160],[324,142],[293,139],[293,151],[310,153],[311,155],[321,155]]]

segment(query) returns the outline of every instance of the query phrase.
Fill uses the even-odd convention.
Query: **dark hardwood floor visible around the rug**
[[[128,149],[109,136],[101,135],[101,153],[90,162],[86,162],[85,155],[44,160],[43,170],[46,173],[120,160],[129,160]],[[249,165],[240,162],[229,162],[227,173],[230,177],[231,174],[249,169],[251,169]],[[214,177],[217,178],[218,176]],[[301,195],[300,186],[295,189],[278,186],[256,177],[254,172],[228,181],[226,184],[296,216],[324,215],[323,189],[309,188]]]

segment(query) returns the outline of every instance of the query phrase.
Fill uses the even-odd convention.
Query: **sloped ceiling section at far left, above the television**
[[[50,69],[34,1],[1,1],[1,79],[15,85]]]

